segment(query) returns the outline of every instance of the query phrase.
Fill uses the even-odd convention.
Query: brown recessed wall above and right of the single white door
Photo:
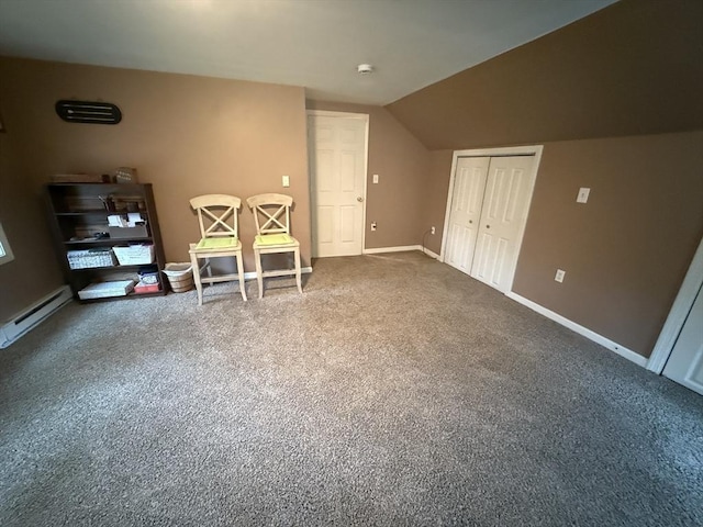
[[[308,109],[369,115],[366,248],[420,245],[425,231],[421,203],[429,167],[427,149],[383,108],[308,101]],[[372,182],[375,173],[378,184]],[[371,222],[378,225],[375,232]]]

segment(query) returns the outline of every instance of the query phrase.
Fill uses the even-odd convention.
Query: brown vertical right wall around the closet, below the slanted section
[[[432,156],[444,222],[451,150]],[[546,143],[513,291],[649,357],[703,236],[702,173],[703,131]]]

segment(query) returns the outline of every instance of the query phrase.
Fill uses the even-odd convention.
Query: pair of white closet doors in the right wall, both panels
[[[445,261],[510,291],[532,198],[534,156],[457,160]]]

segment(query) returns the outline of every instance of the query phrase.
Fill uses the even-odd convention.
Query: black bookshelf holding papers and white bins
[[[138,299],[164,295],[168,291],[161,272],[166,266],[161,233],[150,183],[51,183],[46,186],[49,221],[56,251],[64,276],[76,299],[78,292],[93,283],[135,280],[140,273],[156,273],[157,292],[131,292],[121,296],[81,300],[82,302]],[[108,237],[108,216],[138,212],[146,225],[141,228],[120,229],[120,237]],[[114,228],[112,229],[114,233]],[[115,265],[71,269],[68,255],[74,250],[112,249],[134,244],[154,246],[150,264]]]

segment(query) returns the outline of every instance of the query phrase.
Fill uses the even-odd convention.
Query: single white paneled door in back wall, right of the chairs
[[[368,116],[308,116],[312,256],[364,248]]]

